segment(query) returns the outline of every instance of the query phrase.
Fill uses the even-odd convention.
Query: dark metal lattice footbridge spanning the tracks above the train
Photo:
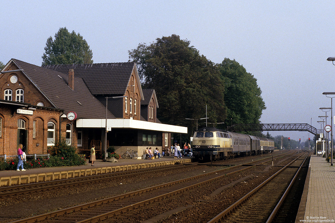
[[[319,131],[309,124],[235,124],[228,128],[228,131],[307,131],[313,135]]]

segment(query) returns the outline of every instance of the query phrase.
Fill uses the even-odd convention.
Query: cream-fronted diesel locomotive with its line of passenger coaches
[[[203,127],[193,136],[193,155],[200,160],[219,160],[274,150],[272,139]]]

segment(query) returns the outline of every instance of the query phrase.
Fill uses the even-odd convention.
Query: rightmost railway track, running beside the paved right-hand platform
[[[306,157],[302,158],[304,154],[284,166],[254,190],[208,221],[208,223],[271,222],[310,155],[308,153]],[[288,168],[289,166],[294,166],[293,164],[296,162],[300,162],[297,168]]]

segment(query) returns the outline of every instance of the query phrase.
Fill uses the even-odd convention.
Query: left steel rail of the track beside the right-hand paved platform
[[[241,199],[239,199],[234,204],[230,205],[228,208],[226,208],[225,210],[223,210],[221,213],[219,213],[218,215],[216,215],[214,218],[212,218],[207,223],[215,223],[215,222],[219,222],[220,220],[222,220],[222,218],[225,217],[229,212],[231,212],[238,205],[240,205],[241,203],[243,203],[244,201],[246,201],[249,197],[251,197],[257,191],[259,191],[262,187],[264,187],[264,185],[266,185],[268,182],[270,182],[275,176],[277,176],[279,173],[281,173],[284,169],[286,169],[289,165],[291,165],[293,162],[295,162],[295,160],[297,160],[298,158],[300,158],[305,153],[306,152],[304,152],[303,154],[301,154],[300,156],[298,156],[297,158],[295,158],[293,161],[291,161],[290,163],[288,163],[287,165],[285,165],[283,168],[281,168],[280,170],[278,170],[275,174],[273,174],[272,176],[270,176],[269,178],[267,178],[263,183],[261,183],[260,185],[258,185],[255,189],[253,189],[252,191],[250,191],[248,194],[246,194],[245,196],[243,196]],[[303,163],[302,163],[302,165],[303,165]]]

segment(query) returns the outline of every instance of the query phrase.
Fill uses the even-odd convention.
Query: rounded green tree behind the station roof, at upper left
[[[54,41],[50,36],[46,45],[45,53],[42,56],[42,66],[93,63],[93,54],[86,40],[75,31],[70,33],[66,27],[58,30]]]

